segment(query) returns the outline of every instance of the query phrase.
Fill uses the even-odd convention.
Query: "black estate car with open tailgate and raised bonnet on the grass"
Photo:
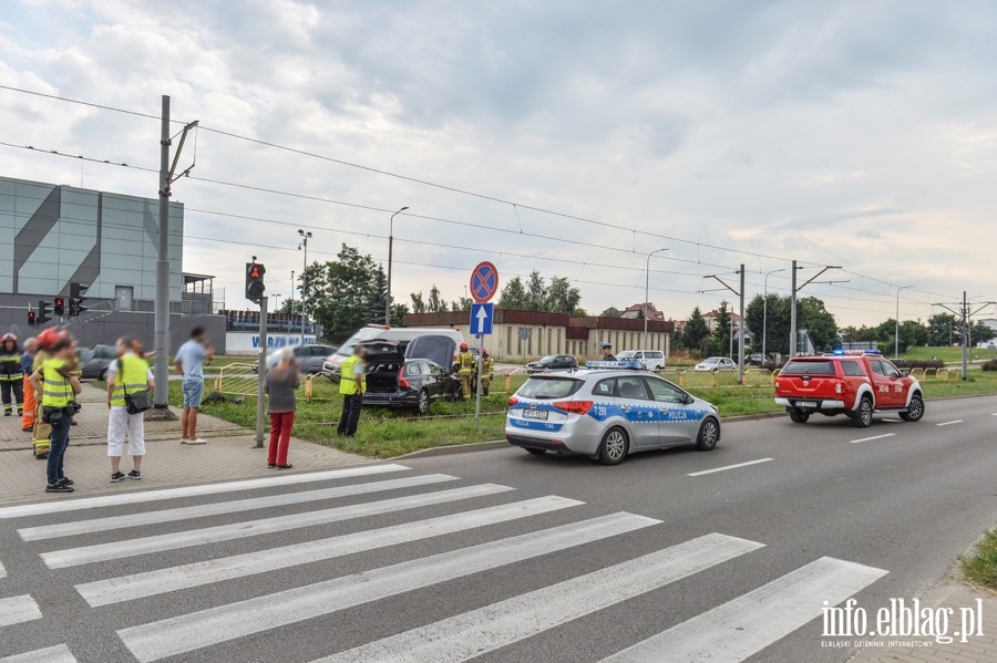
[[[449,335],[426,334],[411,341],[361,341],[367,356],[363,405],[408,407],[424,414],[448,394],[456,344]],[[444,367],[444,363],[446,367]]]

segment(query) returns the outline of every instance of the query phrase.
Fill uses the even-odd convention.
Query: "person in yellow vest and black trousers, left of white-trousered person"
[[[69,432],[76,413],[76,394],[83,391],[76,366],[76,341],[59,332],[49,348],[41,369],[31,375],[31,386],[42,395],[42,418],[52,427],[49,434],[48,484],[45,493],[72,493],[73,481],[65,476],[63,460]]]

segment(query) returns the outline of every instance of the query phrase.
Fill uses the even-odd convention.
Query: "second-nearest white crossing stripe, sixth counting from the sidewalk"
[[[314,663],[466,661],[762,547],[746,539],[707,535]],[[658,655],[660,660],[660,652]],[[678,660],[670,653],[668,657]]]

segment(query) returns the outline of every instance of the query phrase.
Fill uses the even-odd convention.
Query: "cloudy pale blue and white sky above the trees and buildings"
[[[409,301],[567,277],[598,312],[789,291],[841,324],[997,300],[990,2],[4,0],[0,85],[199,120],[185,271],[244,308],[346,242]],[[178,128],[178,127],[177,127]],[[0,89],[0,142],[158,167],[155,118]],[[253,138],[258,142],[247,141]],[[291,148],[281,149],[259,142]],[[136,168],[0,146],[0,174],[155,196]],[[259,190],[266,189],[266,190]],[[987,309],[990,311],[991,309]]]

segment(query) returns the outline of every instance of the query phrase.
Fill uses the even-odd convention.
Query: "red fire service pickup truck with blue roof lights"
[[[861,428],[874,412],[895,412],[906,422],[924,416],[921,384],[875,351],[790,360],[775,379],[775,403],[798,424],[815,412],[847,415]]]

